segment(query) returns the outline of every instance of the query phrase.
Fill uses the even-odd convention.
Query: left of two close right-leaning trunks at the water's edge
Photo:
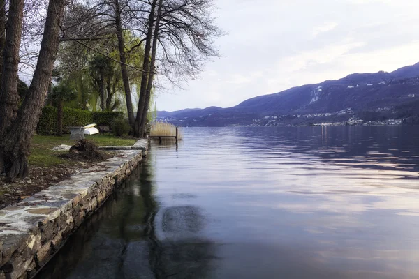
[[[145,109],[145,95],[147,93],[147,81],[149,77],[149,61],[150,61],[150,50],[152,49],[152,36],[153,36],[153,25],[154,25],[154,10],[156,9],[157,0],[152,1],[152,6],[149,13],[147,37],[145,40],[144,59],[142,61],[142,75],[140,85],[140,98],[138,99],[138,110],[137,118],[135,119],[134,136],[142,137],[140,133],[142,114]]]

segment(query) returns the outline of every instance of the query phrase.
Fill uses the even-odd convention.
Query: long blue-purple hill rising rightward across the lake
[[[419,114],[418,102],[419,63],[416,63],[392,73],[354,73],[340,80],[293,87],[244,100],[235,107],[158,112],[157,116],[186,126],[249,125],[266,116],[304,115],[308,119],[311,114],[335,116],[341,111],[409,117]]]

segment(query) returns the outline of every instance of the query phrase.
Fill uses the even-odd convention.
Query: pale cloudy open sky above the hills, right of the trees
[[[417,0],[214,0],[220,58],[157,110],[231,107],[293,86],[419,62]]]

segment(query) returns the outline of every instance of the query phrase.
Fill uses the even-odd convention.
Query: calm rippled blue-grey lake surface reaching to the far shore
[[[419,127],[183,133],[38,278],[419,278]]]

